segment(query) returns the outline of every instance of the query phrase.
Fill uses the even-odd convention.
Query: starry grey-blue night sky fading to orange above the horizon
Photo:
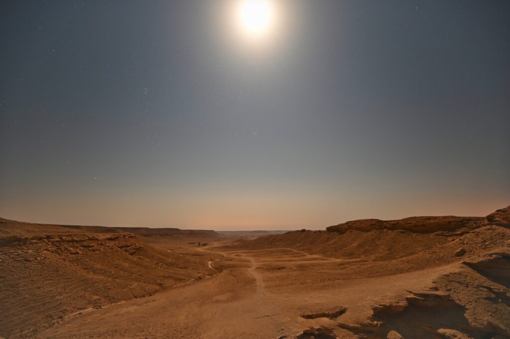
[[[510,204],[510,2],[2,1],[0,216],[324,228]]]

